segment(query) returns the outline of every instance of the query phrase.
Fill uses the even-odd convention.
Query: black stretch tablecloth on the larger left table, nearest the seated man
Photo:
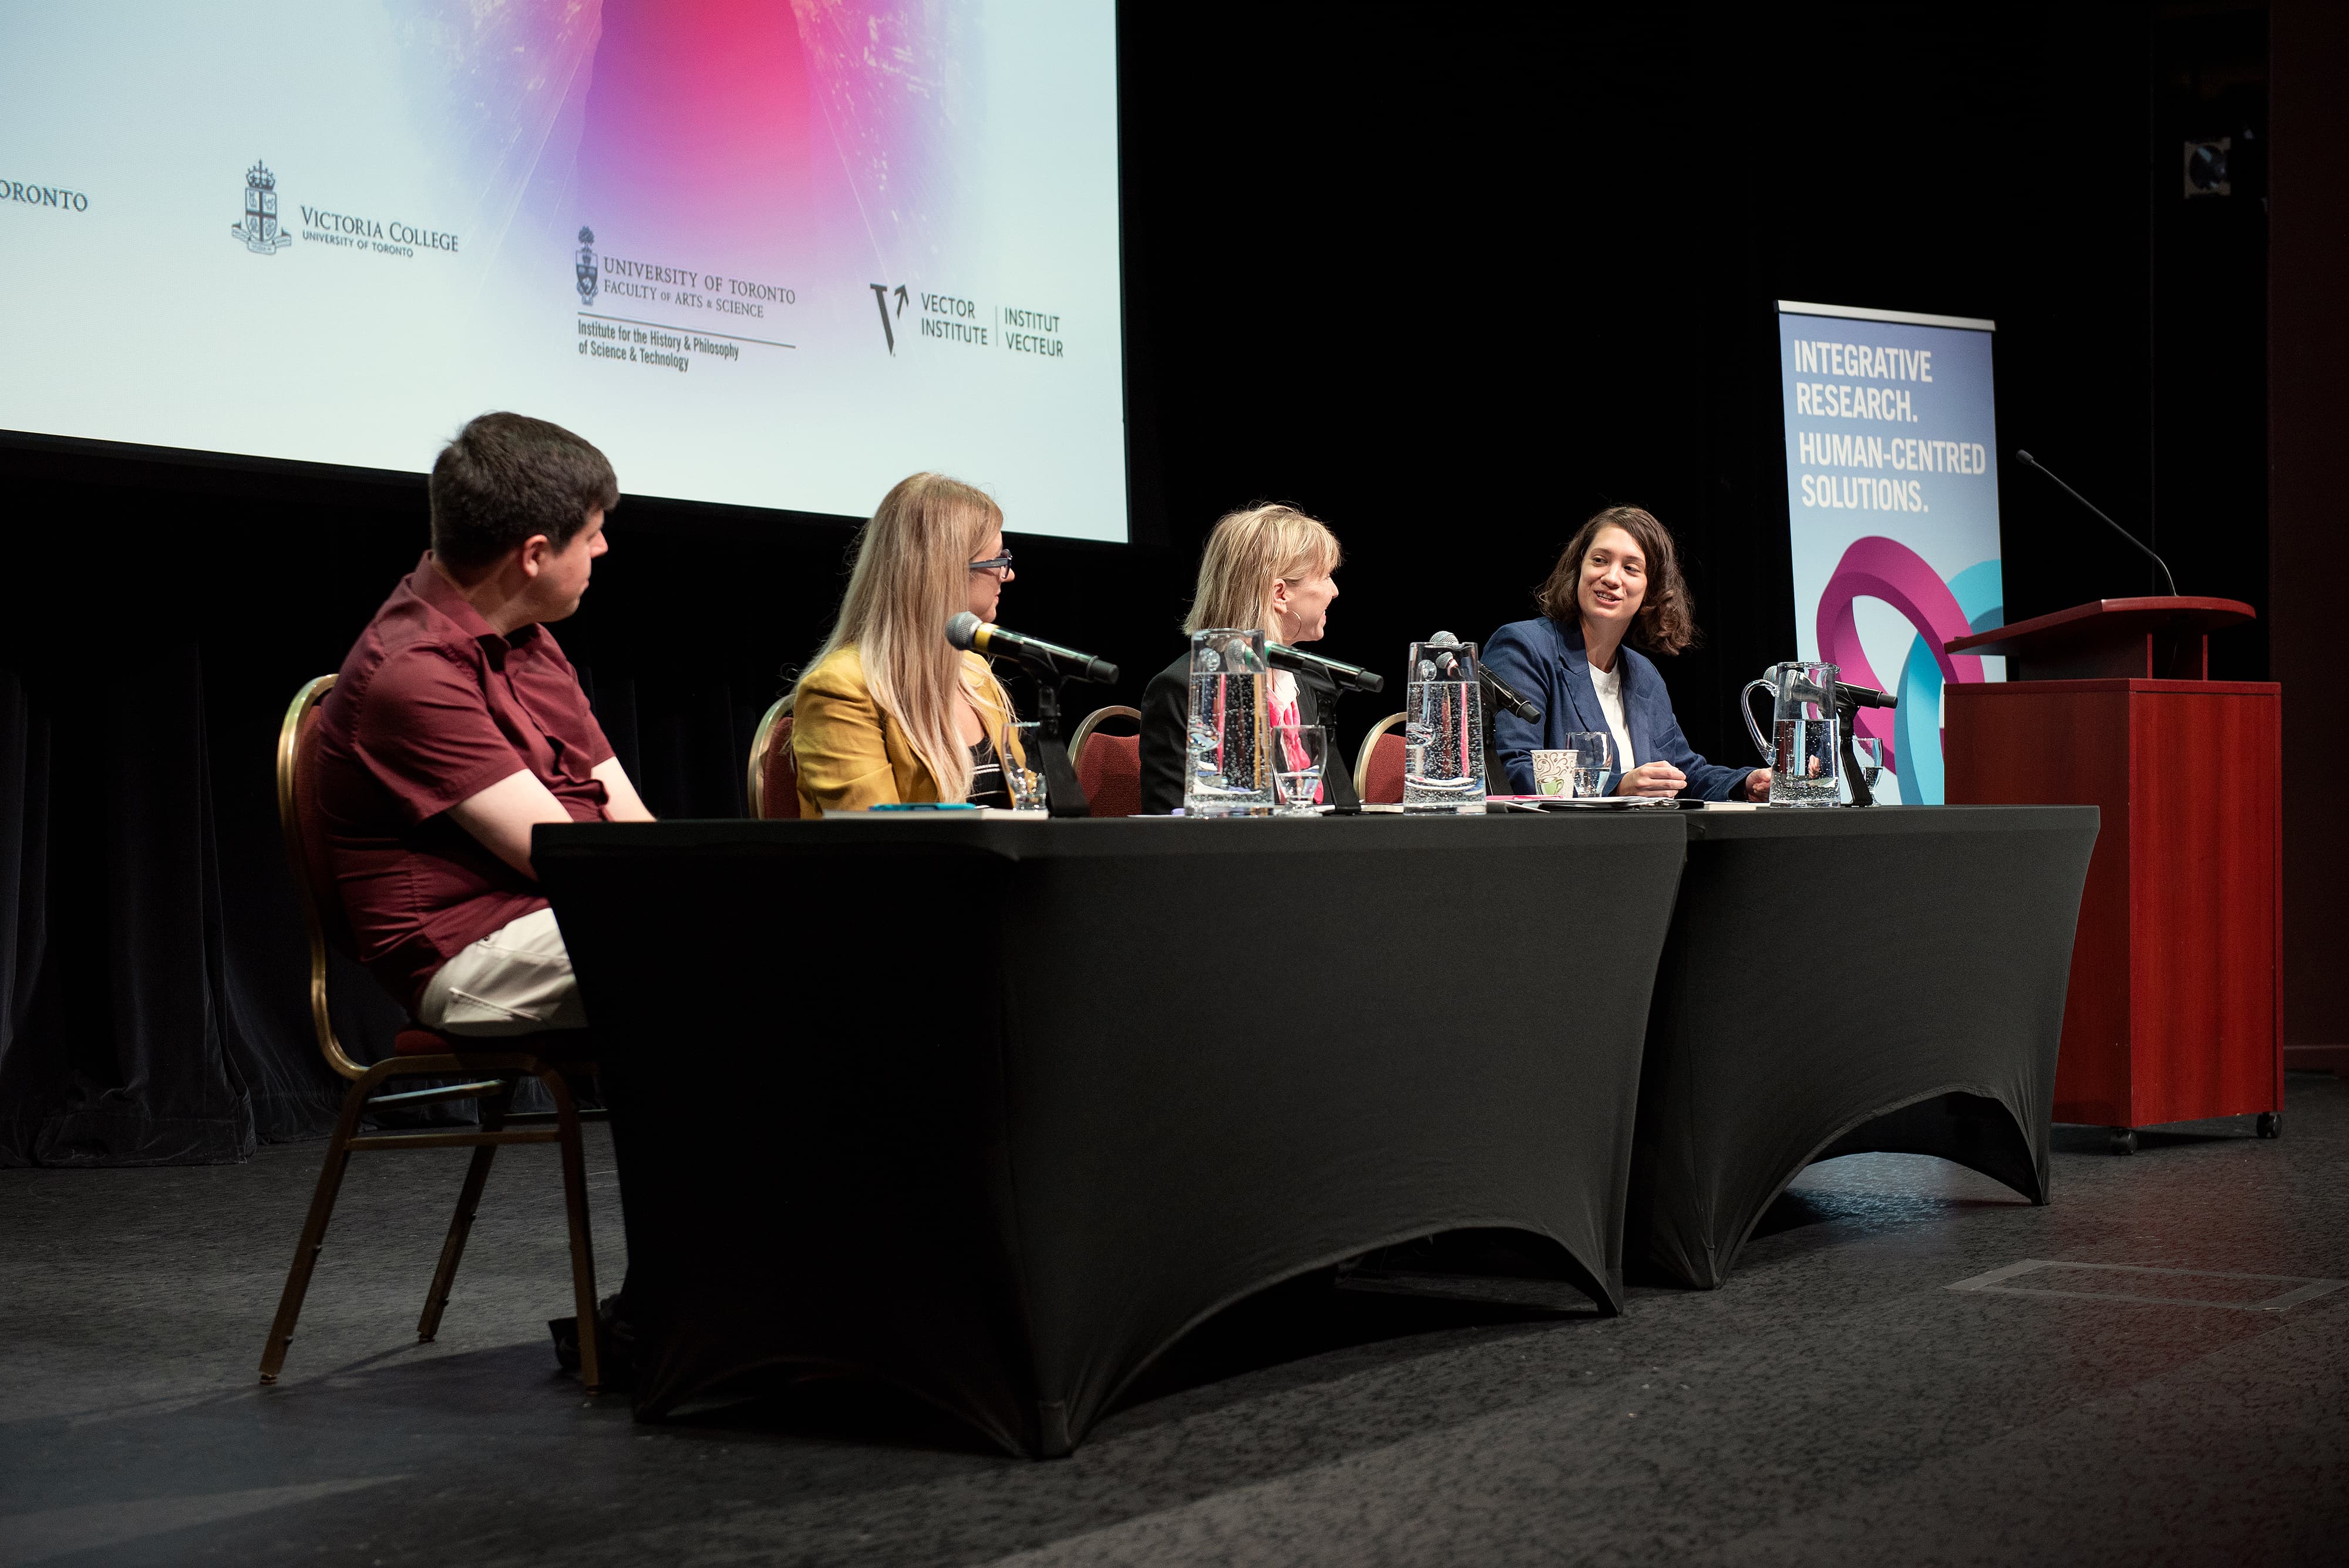
[[[1066,1453],[1214,1310],[1454,1228],[1555,1239],[1614,1310],[1684,845],[1677,812],[538,829],[639,1415],[815,1364]]]

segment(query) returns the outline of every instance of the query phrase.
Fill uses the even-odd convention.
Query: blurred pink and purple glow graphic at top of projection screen
[[[808,286],[949,246],[980,31],[921,0],[395,0],[491,207]],[[533,239],[536,244],[536,239]]]

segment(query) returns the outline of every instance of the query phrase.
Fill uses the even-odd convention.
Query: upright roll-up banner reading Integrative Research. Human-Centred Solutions
[[[1858,718],[1898,779],[1879,800],[1940,805],[1940,688],[2006,678],[1943,650],[2006,624],[1990,340],[1966,317],[1778,300],[1797,653],[1900,695]]]

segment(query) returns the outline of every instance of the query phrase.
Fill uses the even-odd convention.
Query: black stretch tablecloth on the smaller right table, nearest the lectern
[[[1717,1286],[1802,1167],[1940,1155],[2048,1199],[2093,805],[1684,812],[1628,1246]]]

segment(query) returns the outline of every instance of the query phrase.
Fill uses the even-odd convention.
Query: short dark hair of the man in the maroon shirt
[[[484,413],[432,460],[432,554],[489,566],[533,533],[557,549],[587,514],[620,505],[611,462],[561,425]]]

